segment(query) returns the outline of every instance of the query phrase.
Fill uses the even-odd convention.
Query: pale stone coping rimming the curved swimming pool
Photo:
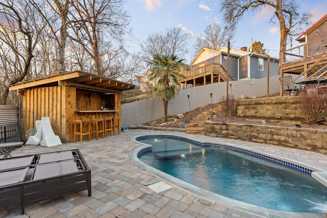
[[[219,139],[217,139],[217,141],[199,141],[195,138],[191,138],[191,137],[187,137],[187,136],[180,136],[180,135],[174,135],[174,134],[143,134],[143,135],[137,135],[134,137],[131,137],[131,141],[133,141],[134,143],[140,144],[140,147],[136,147],[134,148],[130,153],[129,153],[129,159],[138,167],[141,167],[143,169],[145,169],[147,172],[152,173],[156,176],[158,176],[159,178],[163,179],[163,180],[167,180],[168,182],[175,184],[185,190],[188,190],[198,196],[201,196],[203,198],[215,201],[219,204],[225,205],[226,207],[230,207],[230,208],[234,208],[237,210],[243,210],[243,211],[247,211],[247,212],[251,212],[255,215],[260,215],[260,216],[267,216],[267,217],[275,217],[275,216],[283,216],[283,217],[308,217],[308,215],[310,215],[310,217],[314,216],[314,215],[321,215],[324,213],[302,213],[302,212],[289,212],[289,211],[280,211],[280,210],[274,210],[274,209],[268,209],[268,208],[264,208],[264,207],[260,207],[260,206],[256,206],[256,205],[252,205],[252,204],[248,204],[245,202],[241,202],[238,200],[234,200],[234,199],[230,199],[221,195],[218,195],[216,193],[213,193],[211,191],[207,191],[204,190],[200,187],[197,187],[195,185],[192,185],[190,183],[184,182],[180,179],[177,179],[169,174],[166,174],[162,171],[159,171],[158,169],[149,166],[145,163],[143,163],[141,160],[138,159],[138,155],[140,153],[142,153],[145,150],[151,150],[152,146],[149,144],[145,144],[142,142],[137,141],[137,138],[140,137],[146,137],[146,136],[151,136],[151,137],[155,137],[155,136],[171,136],[171,137],[176,137],[176,138],[184,138],[184,139],[188,139],[197,143],[208,143],[208,144],[223,144],[225,146],[230,146],[233,148],[238,148],[238,149],[243,149],[243,150],[247,150],[250,152],[254,152],[254,153],[259,153],[262,155],[266,155],[272,158],[276,158],[276,159],[280,159],[283,161],[287,161],[287,162],[291,162],[294,163],[296,165],[300,165],[302,167],[305,168],[309,168],[312,169],[313,172],[311,173],[311,176],[313,178],[315,178],[316,180],[318,180],[319,182],[321,182],[323,185],[326,186],[327,184],[327,169],[324,167],[320,167],[314,164],[310,164],[310,163],[306,163],[303,161],[299,161],[296,159],[292,159],[292,158],[288,158],[288,157],[284,157],[281,155],[276,155],[270,152],[264,152],[264,151],[259,151],[256,149],[252,149],[252,148],[248,148],[246,146],[238,146],[236,144],[231,144],[231,143],[221,143],[219,142]]]

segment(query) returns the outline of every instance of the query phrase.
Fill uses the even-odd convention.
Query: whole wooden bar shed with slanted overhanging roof
[[[63,143],[74,140],[73,120],[118,117],[121,129],[121,94],[134,85],[83,71],[15,84],[9,90],[22,95],[23,130],[36,128],[35,121],[49,116]]]

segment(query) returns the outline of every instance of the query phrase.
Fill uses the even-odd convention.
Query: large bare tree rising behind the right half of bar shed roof
[[[130,18],[123,10],[122,0],[73,1],[69,12],[71,37],[79,42],[94,61],[94,73],[106,75],[108,51],[100,43],[115,41],[120,48],[129,33]],[[74,37],[73,37],[74,35]],[[110,74],[109,74],[110,75]]]

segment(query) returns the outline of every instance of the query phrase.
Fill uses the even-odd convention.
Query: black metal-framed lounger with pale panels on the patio
[[[0,160],[0,210],[88,191],[91,171],[78,149]]]

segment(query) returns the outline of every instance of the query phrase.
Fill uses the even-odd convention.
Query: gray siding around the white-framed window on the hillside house
[[[267,77],[268,73],[268,61],[264,58],[264,70],[259,70],[259,58],[256,56],[250,57],[250,77],[251,79],[260,79]],[[270,61],[269,62],[269,76],[278,75],[278,62]]]

